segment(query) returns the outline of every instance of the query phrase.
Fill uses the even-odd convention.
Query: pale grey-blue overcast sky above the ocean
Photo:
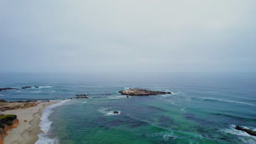
[[[256,72],[256,1],[0,1],[2,72]]]

